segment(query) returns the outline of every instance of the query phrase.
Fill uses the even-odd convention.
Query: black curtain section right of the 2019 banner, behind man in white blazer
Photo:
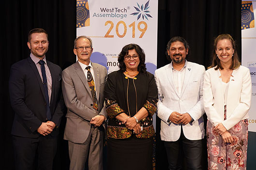
[[[158,0],[157,68],[170,63],[165,55],[166,44],[174,36],[184,37],[189,43],[187,60],[206,69],[211,64],[213,39],[219,34],[228,33],[236,40],[241,59],[241,3],[241,0]],[[204,120],[206,127],[205,114]],[[159,133],[160,119],[156,118],[156,170],[167,170],[166,151]],[[207,170],[206,138],[203,146],[202,169]]]

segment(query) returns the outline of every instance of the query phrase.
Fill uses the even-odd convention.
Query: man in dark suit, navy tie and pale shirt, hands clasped
[[[12,65],[9,80],[15,167],[32,170],[38,157],[38,170],[52,170],[63,115],[61,68],[45,58],[49,41],[44,29],[30,30],[27,44],[30,56]]]

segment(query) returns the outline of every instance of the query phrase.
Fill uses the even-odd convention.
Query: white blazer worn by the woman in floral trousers
[[[227,96],[227,119],[224,120],[224,91],[219,69],[208,69],[204,76],[203,103],[208,120],[216,126],[222,123],[229,130],[240,120],[249,118],[252,80],[250,70],[240,65],[230,77]]]

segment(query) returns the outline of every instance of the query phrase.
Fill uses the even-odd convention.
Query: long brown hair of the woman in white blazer
[[[217,70],[219,68],[221,70],[223,69],[223,67],[220,63],[220,59],[217,57],[217,54],[215,52],[215,50],[217,49],[217,43],[219,42],[219,40],[222,40],[222,39],[228,39],[232,44],[232,48],[234,49],[234,53],[232,56],[232,64],[229,67],[229,69],[234,70],[234,69],[238,68],[241,65],[241,63],[238,58],[238,54],[237,54],[237,50],[236,50],[236,43],[235,43],[234,39],[229,34],[221,34],[214,40],[213,61],[212,61],[212,65],[210,65],[208,68],[212,68],[212,67],[216,66],[216,68],[214,68],[215,70]]]

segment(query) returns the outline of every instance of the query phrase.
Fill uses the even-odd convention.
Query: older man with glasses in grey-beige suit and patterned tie
[[[78,61],[62,72],[62,90],[68,108],[64,139],[69,142],[70,170],[103,170],[104,85],[107,70],[90,62],[92,40],[80,36],[74,40]]]

